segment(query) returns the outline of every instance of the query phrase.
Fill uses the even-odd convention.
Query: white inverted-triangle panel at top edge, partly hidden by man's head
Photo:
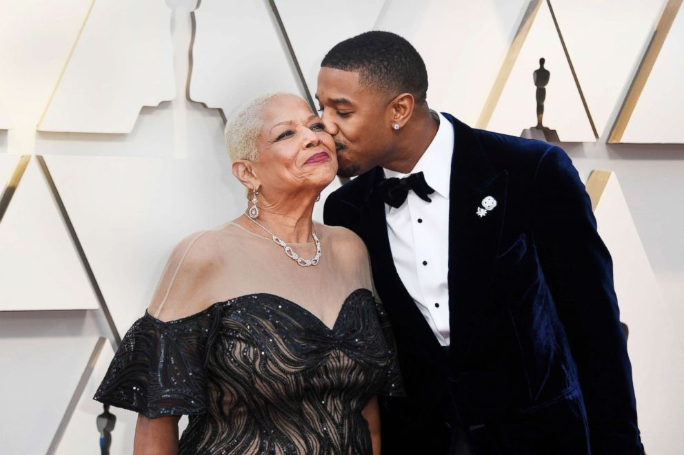
[[[384,0],[276,1],[312,96],[325,54],[340,41],[372,30],[383,3]],[[330,26],[331,11],[334,27]]]

